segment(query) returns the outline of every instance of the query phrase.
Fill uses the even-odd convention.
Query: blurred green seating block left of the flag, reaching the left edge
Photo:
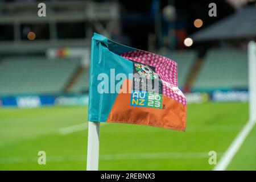
[[[63,92],[80,62],[76,59],[8,57],[0,61],[0,94]]]

